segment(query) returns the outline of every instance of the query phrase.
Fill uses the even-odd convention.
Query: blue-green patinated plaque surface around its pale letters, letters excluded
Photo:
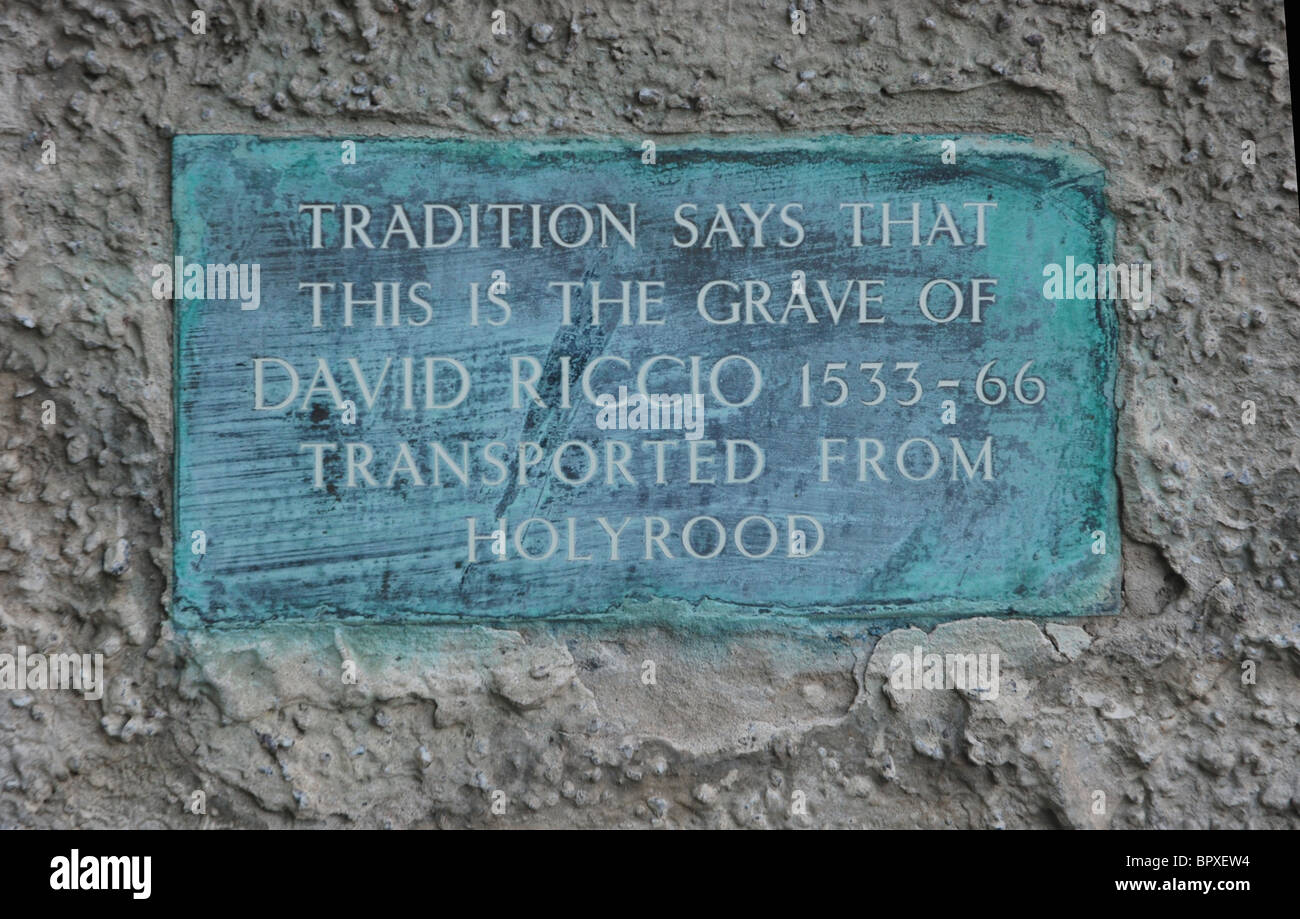
[[[1115,308],[1105,300],[1048,300],[1043,268],[1110,261],[1113,221],[1105,208],[1105,175],[1089,157],[1023,138],[963,138],[957,164],[940,162],[942,138],[818,136],[805,139],[699,139],[660,144],[656,164],[641,160],[640,142],[569,143],[358,139],[352,165],[341,162],[341,139],[263,139],[231,135],[178,136],[173,146],[173,217],[176,255],[187,263],[257,263],[261,304],[242,311],[233,300],[178,299],[176,322],[176,602],[183,628],[238,628],[263,623],[500,623],[521,619],[637,621],[656,604],[701,611],[701,620],[794,621],[871,619],[936,621],[972,615],[1113,614],[1119,599],[1119,532],[1114,477]],[[339,211],[324,222],[324,248],[309,248],[304,203],[364,204],[378,244],[390,207],[400,203],[422,238],[422,204],[542,204],[573,201],[637,203],[637,247],[614,239],[601,248],[566,250],[554,244],[510,251],[494,246],[471,250],[411,250],[395,237],[390,250],[342,250]],[[762,213],[776,205],[764,225],[764,248],[679,248],[673,222],[679,203],[698,205],[696,224],[707,231],[716,203],[737,217],[737,231],[751,237],[738,204]],[[806,238],[796,247],[776,240],[784,203],[797,201]],[[932,246],[875,244],[879,230],[866,212],[867,246],[853,247],[850,212],[841,203],[881,203],[894,216],[922,205],[922,237],[946,203],[959,233],[974,243],[974,211],[963,203],[996,201],[987,213],[987,244],[954,247],[941,234]],[[623,211],[620,209],[620,213]],[[571,214],[573,216],[573,214]],[[526,221],[525,221],[526,224]],[[485,224],[488,226],[488,224]],[[495,224],[490,226],[495,227]],[[443,230],[439,230],[442,233]],[[485,230],[484,239],[491,235]],[[526,234],[525,234],[526,235]],[[894,227],[896,240],[910,243],[910,229]],[[530,239],[530,237],[528,237]],[[789,235],[785,235],[789,238]],[[722,238],[718,238],[722,240]],[[504,270],[514,309],[503,328],[468,325],[468,286],[485,287]],[[710,325],[697,313],[696,296],[712,279],[766,281],[774,294],[770,311],[780,318],[792,272],[807,278],[818,324],[797,312],[786,324]],[[996,278],[996,300],[984,321],[968,321],[968,305],[957,320],[939,325],[916,307],[920,286],[952,278],[968,294],[968,279]],[[883,324],[861,325],[850,298],[850,320],[835,325],[823,305],[819,279],[838,299],[849,279],[883,278],[881,304],[870,316]],[[582,321],[563,326],[554,281],[601,281],[603,295],[619,281],[662,281],[663,304],[653,316],[664,325],[616,325],[618,308],[599,326]],[[326,300],[326,324],[312,328],[309,294],[300,282],[356,285],[358,298],[373,296],[373,282],[426,281],[434,320],[422,328],[374,328],[373,309],[358,311],[343,328],[342,308]],[[338,296],[335,290],[334,296]],[[729,298],[718,295],[715,313]],[[937,304],[948,305],[946,299]],[[585,299],[578,300],[578,305]],[[937,308],[937,313],[944,311]],[[417,317],[422,312],[415,313]],[[485,313],[486,315],[486,313]],[[580,320],[588,318],[578,309]],[[759,316],[760,318],[760,316]],[[651,355],[689,360],[699,355],[707,380],[719,357],[742,354],[762,369],[763,386],[753,404],[725,408],[706,402],[705,438],[715,442],[716,461],[701,477],[724,471],[723,441],[750,439],[766,451],[766,471],[745,485],[688,484],[685,445],[668,455],[668,481],[656,485],[653,451],[641,442],[680,433],[602,430],[595,409],[577,394],[576,374],[601,355],[632,361],[632,374]],[[537,357],[545,374],[538,391],[547,408],[510,408],[510,357]],[[572,360],[573,407],[560,408],[559,356]],[[346,425],[322,391],[306,407],[304,393],[316,357],[329,360],[339,389],[361,408]],[[407,411],[402,404],[402,357],[419,368],[425,356],[463,361],[472,377],[469,398],[451,411]],[[290,409],[254,411],[254,359],[280,357],[302,376]],[[367,411],[344,363],[356,357],[373,382],[385,359],[393,374],[386,393]],[[1001,404],[976,399],[975,380],[991,360],[1005,380]],[[1024,404],[1010,393],[1013,377],[1027,361],[1028,376],[1041,378],[1046,395]],[[828,361],[846,365],[850,395],[841,406],[823,404],[836,394],[822,385]],[[878,389],[862,363],[880,363],[887,395],[863,406]],[[896,364],[916,363],[922,398]],[[809,364],[812,406],[801,407],[801,367]],[[606,363],[597,391],[615,393],[624,381]],[[685,391],[685,377],[660,365],[651,390]],[[734,369],[734,368],[733,368]],[[417,370],[419,376],[419,370]],[[734,374],[744,380],[742,374]],[[731,398],[742,387],[724,374]],[[939,389],[957,380],[957,390]],[[422,383],[422,380],[420,381]],[[283,391],[283,390],[281,390]],[[996,387],[989,390],[996,393]],[[1026,386],[1032,398],[1034,390]],[[957,406],[954,425],[941,421],[942,402]],[[629,443],[637,484],[606,482],[603,443]],[[820,481],[820,438],[842,441],[833,452],[829,481]],[[879,481],[866,468],[859,481],[859,438],[880,441]],[[923,438],[940,451],[939,472],[913,482],[900,474],[896,450]],[[992,480],[976,467],[974,478],[958,465],[952,438],[976,461],[992,438]],[[551,450],[585,441],[601,467],[582,486],[569,486],[549,472]],[[430,484],[426,445],[442,442],[460,458],[471,443],[471,484],[462,485],[443,465],[442,482]],[[508,450],[507,485],[485,485],[497,471],[478,459],[482,445],[502,441]],[[515,445],[543,445],[546,460],[526,484],[516,482]],[[312,455],[302,443],[338,445],[326,452],[325,487],[313,487]],[[343,445],[373,447],[381,485],[396,445],[408,443],[424,478],[416,485],[402,473],[393,487],[347,487]],[[874,455],[874,447],[867,451]],[[576,456],[576,454],[575,454]],[[913,445],[914,474],[930,465],[928,447]],[[744,459],[744,456],[741,458]],[[742,467],[744,469],[745,467]],[[581,467],[569,469],[581,473]],[[732,533],[718,558],[685,558],[682,525],[711,516],[728,530],[746,516],[777,526],[777,547],[767,558],[748,559]],[[790,558],[788,515],[810,515],[824,528],[822,550]],[[630,523],[620,539],[620,559],[608,559],[608,537],[595,524]],[[646,560],[646,516],[668,521],[673,559]],[[507,558],[494,559],[481,542],[469,563],[467,517],[480,533],[506,517]],[[537,517],[556,526],[559,546],[545,562],[517,558],[514,529]],[[578,555],[569,562],[566,520],[572,517]],[[207,551],[191,551],[203,530]],[[1093,533],[1106,537],[1106,551],[1093,551]],[[697,526],[697,550],[711,551],[711,525]],[[768,533],[753,524],[749,550],[760,552]],[[524,547],[545,552],[547,533],[534,524]],[[811,537],[810,537],[811,543]],[[603,550],[603,551],[602,551]],[[676,615],[676,614],[675,614]]]

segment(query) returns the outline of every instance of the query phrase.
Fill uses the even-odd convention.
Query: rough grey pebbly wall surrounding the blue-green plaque
[[[103,653],[107,692],[0,690],[0,825],[1300,825],[1282,4],[798,3],[806,35],[776,0],[502,3],[500,36],[467,0],[200,0],[203,35],[190,3],[3,5],[0,651]],[[1089,152],[1118,260],[1156,266],[1121,317],[1122,614],[177,633],[150,268],[170,138],[217,131]],[[894,689],[915,645],[998,651],[998,698]]]

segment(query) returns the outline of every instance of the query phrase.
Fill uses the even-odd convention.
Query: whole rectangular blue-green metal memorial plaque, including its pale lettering
[[[1117,610],[1115,307],[1088,279],[1113,225],[1083,155],[196,135],[173,160],[182,627]]]

